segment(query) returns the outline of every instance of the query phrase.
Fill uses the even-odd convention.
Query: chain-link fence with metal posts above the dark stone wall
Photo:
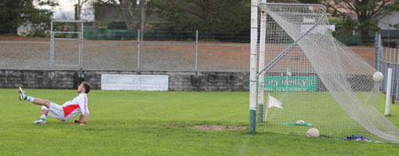
[[[69,30],[71,31],[71,30]],[[209,32],[111,31],[84,28],[82,64],[79,42],[51,38],[0,36],[0,69],[127,70],[127,71],[248,71],[247,34]],[[55,36],[55,38],[68,36]],[[140,39],[140,40],[138,40]],[[352,47],[375,66],[374,47]],[[82,65],[82,66],[51,66]]]

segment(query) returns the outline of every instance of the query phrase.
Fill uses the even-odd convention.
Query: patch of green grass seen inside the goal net
[[[356,96],[361,99],[368,97],[367,92],[356,92]],[[368,105],[378,103],[378,93],[373,93],[371,99],[368,100]],[[309,121],[313,128],[320,131],[320,135],[326,137],[334,137],[341,139],[344,136],[358,135],[366,136],[372,140],[384,141],[379,137],[373,136],[370,132],[364,129],[356,121],[352,120],[342,107],[332,98],[329,92],[291,92],[281,93],[274,92],[270,96],[278,98],[283,103],[284,109],[270,108],[268,113],[268,121],[258,124],[259,130],[284,134],[300,134],[306,135],[309,127],[286,126],[285,122],[296,122],[299,120]],[[356,114],[356,111],[368,111],[359,115],[360,119],[370,119],[372,123],[377,124],[382,120],[378,116],[378,110],[370,109],[369,106],[364,106],[364,109],[359,109],[359,106],[352,106],[357,103],[348,102],[348,112]],[[351,110],[350,110],[351,109]],[[377,116],[377,118],[376,118]],[[370,125],[369,125],[370,126]]]

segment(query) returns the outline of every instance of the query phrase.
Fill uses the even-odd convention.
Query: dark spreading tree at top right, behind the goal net
[[[363,43],[368,42],[369,31],[379,31],[374,18],[398,10],[399,5],[387,0],[325,0],[323,3],[330,11],[340,14],[345,27],[360,31]]]

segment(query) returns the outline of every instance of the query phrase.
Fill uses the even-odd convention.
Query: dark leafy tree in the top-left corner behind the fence
[[[53,0],[2,0],[0,1],[0,33],[16,34],[20,25],[36,27],[37,31],[50,29],[52,13],[48,9],[39,9],[35,6],[58,5]],[[38,33],[38,32],[37,32]]]

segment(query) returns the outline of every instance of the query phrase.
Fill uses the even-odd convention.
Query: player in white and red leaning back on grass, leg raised
[[[77,90],[79,95],[76,98],[67,101],[64,103],[64,105],[57,105],[47,99],[29,97],[20,88],[20,100],[27,100],[35,105],[42,105],[42,115],[40,116],[40,119],[37,121],[32,121],[32,123],[45,123],[47,115],[57,118],[59,121],[68,121],[74,115],[81,113],[79,120],[74,121],[74,123],[86,125],[87,119],[89,117],[87,93],[90,92],[90,89],[90,83],[81,82]]]

